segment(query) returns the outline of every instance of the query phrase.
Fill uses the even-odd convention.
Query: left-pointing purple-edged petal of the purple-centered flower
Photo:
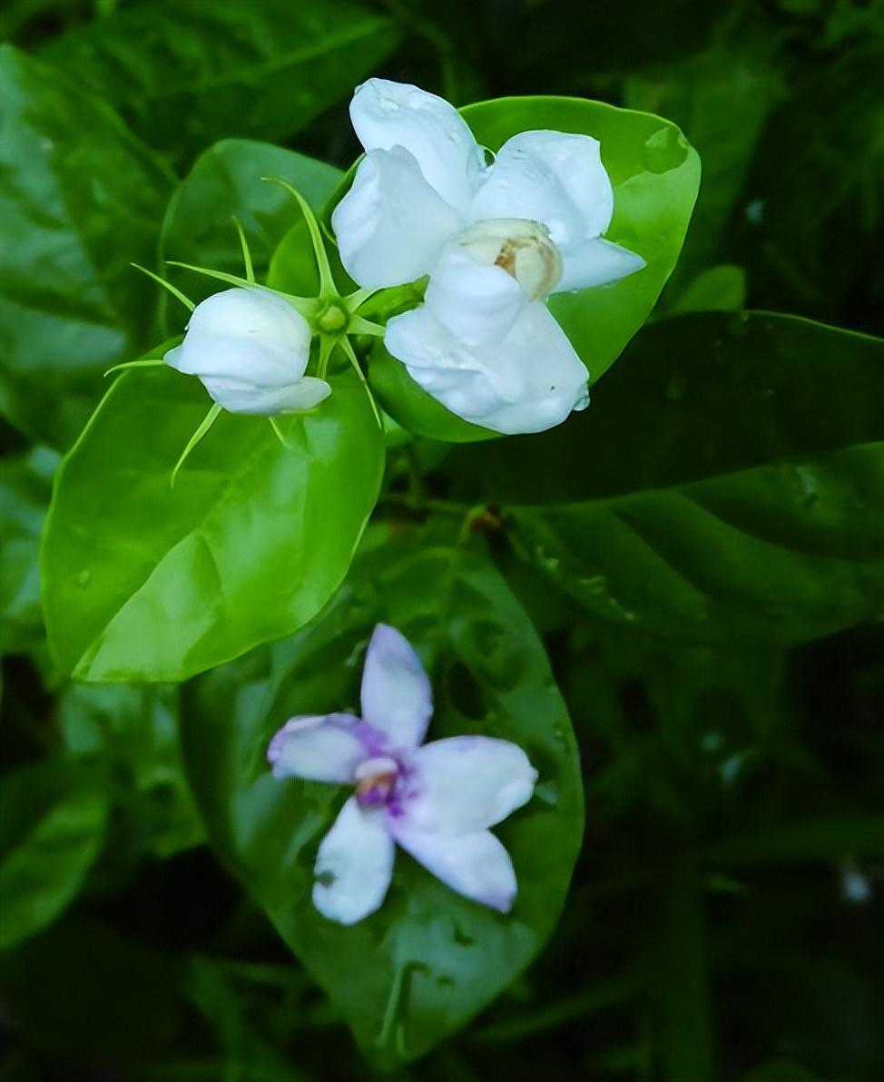
[[[349,714],[290,718],[267,748],[274,777],[353,781],[357,766],[371,754],[362,728]]]

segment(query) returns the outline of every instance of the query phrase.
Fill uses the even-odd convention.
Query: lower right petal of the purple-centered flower
[[[396,841],[427,871],[465,898],[509,913],[516,897],[513,861],[487,830],[474,834],[433,834],[394,820]]]

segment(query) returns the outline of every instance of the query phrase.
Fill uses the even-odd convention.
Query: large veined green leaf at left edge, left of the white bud
[[[151,263],[171,185],[81,84],[0,47],[0,412],[65,448],[101,373],[143,347]]]

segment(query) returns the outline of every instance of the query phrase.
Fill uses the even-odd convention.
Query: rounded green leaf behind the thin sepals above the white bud
[[[216,143],[200,155],[172,196],[162,223],[160,258],[241,275],[242,253],[233,222],[236,216],[249,242],[255,277],[264,281],[274,250],[301,217],[291,196],[263,181],[264,176],[289,181],[319,211],[338,185],[341,171],[267,143]],[[312,258],[306,238],[304,243]],[[174,274],[193,301],[201,301],[216,289],[216,283],[201,275]]]

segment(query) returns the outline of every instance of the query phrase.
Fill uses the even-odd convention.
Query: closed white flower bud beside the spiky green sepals
[[[281,296],[227,289],[194,309],[180,346],[163,358],[198,375],[210,397],[232,413],[311,409],[331,394],[304,375],[311,347],[306,319]]]

